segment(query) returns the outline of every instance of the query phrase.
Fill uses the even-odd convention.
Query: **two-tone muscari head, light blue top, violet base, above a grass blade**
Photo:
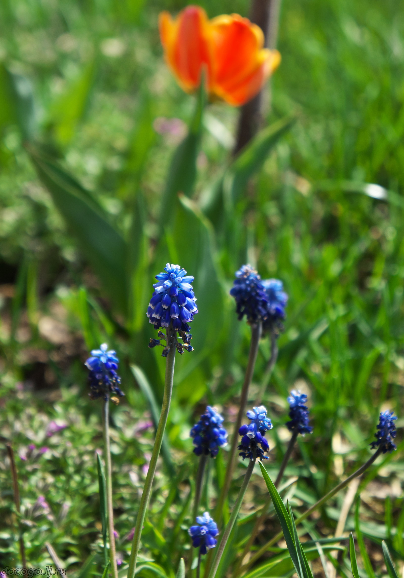
[[[257,458],[260,458],[261,461],[269,460],[269,457],[264,455],[264,453],[269,451],[269,444],[264,436],[269,429],[272,429],[272,423],[266,417],[267,413],[266,407],[263,405],[248,410],[247,417],[251,423],[248,425],[244,424],[239,429],[242,439],[238,449],[242,450],[239,455],[243,460],[246,458],[251,461]]]

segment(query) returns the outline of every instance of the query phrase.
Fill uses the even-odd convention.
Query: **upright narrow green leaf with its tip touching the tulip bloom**
[[[189,197],[197,177],[197,157],[199,142],[202,134],[202,115],[205,107],[205,91],[203,82],[198,91],[195,103],[194,116],[188,128],[188,135],[179,144],[171,161],[171,166],[166,180],[165,190],[161,200],[160,235],[166,225],[171,222],[171,217],[177,206],[177,195],[183,192]]]

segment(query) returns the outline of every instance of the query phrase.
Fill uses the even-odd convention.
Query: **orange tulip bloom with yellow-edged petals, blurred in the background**
[[[239,14],[208,20],[199,6],[187,6],[173,20],[168,12],[159,19],[165,59],[177,82],[194,92],[206,70],[211,99],[233,106],[251,100],[279,66],[280,54],[264,46],[264,34]]]

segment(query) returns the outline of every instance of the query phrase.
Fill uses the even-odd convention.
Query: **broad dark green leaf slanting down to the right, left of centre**
[[[109,223],[107,214],[60,166],[34,146],[28,153],[42,183],[75,236],[80,250],[90,261],[103,287],[121,312],[127,311],[127,244]]]

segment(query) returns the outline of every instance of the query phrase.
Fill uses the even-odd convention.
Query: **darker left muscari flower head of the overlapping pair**
[[[239,320],[245,315],[250,324],[268,317],[268,297],[261,277],[251,265],[243,265],[235,273],[230,295],[236,300]]]

